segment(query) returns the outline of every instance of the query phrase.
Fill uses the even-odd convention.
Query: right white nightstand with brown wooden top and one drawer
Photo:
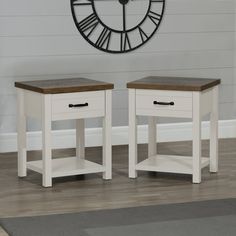
[[[137,171],[191,174],[201,182],[201,169],[218,171],[219,79],[146,77],[127,84],[129,89],[129,177]],[[210,114],[210,158],[201,156],[201,118]],[[137,116],[148,116],[148,157],[137,160]],[[158,155],[156,117],[193,120],[193,156]]]

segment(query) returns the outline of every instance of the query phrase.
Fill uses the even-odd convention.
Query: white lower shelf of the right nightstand
[[[168,172],[178,174],[192,174],[192,157],[155,155],[138,163],[136,170]],[[210,159],[202,157],[202,168],[210,163]]]

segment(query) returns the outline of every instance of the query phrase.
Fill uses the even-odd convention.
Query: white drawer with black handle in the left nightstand
[[[101,117],[104,114],[104,91],[52,95],[52,120]]]

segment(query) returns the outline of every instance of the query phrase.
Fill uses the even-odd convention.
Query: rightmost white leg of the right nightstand
[[[218,86],[213,89],[210,115],[210,172],[218,171]]]

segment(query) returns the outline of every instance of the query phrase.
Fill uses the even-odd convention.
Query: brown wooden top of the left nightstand
[[[68,78],[15,82],[15,87],[43,94],[57,94],[113,89],[114,84],[85,78]]]

